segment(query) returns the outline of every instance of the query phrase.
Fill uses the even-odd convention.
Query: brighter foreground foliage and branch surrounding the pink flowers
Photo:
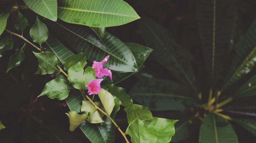
[[[34,43],[23,37],[24,30],[30,27],[30,21],[20,13],[20,8],[30,9],[44,17],[37,16],[30,28],[29,34]],[[11,12],[17,14],[13,25],[21,35],[5,29]],[[63,21],[57,21],[57,18]],[[152,49],[136,43],[123,43],[106,32],[105,27],[122,25],[138,18],[132,7],[122,0],[18,1],[11,10],[0,12],[0,35],[6,31],[25,42],[21,49],[16,49],[16,54],[11,55],[7,72],[22,63],[25,47],[29,44],[40,51],[33,52],[39,62],[36,73],[56,75],[56,79],[49,81],[39,96],[66,100],[70,108],[67,115],[71,131],[79,126],[93,143],[114,142],[115,126],[123,133],[114,121],[119,106],[123,105],[129,123],[126,133],[131,136],[132,142],[167,143],[175,133],[174,124],[177,120],[153,117],[146,107],[133,104],[124,88],[114,85],[138,72]],[[78,54],[49,35],[45,23],[59,35],[65,35],[62,40],[72,45]],[[3,37],[0,41],[0,54],[11,50],[13,45],[10,37]],[[85,93],[88,90],[85,84],[95,80],[96,76],[95,70],[87,62],[100,61],[106,55],[110,55],[110,58],[104,67],[114,71],[114,83],[105,78],[101,92],[91,99]],[[3,129],[2,123],[0,125]],[[124,137],[126,133],[123,133]]]

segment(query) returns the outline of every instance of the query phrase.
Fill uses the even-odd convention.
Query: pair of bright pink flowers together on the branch
[[[109,76],[112,80],[112,73],[109,69],[103,68],[103,64],[107,63],[109,59],[109,55],[106,56],[101,62],[93,61],[92,68],[95,70],[95,76],[98,78],[102,78],[103,76]],[[88,87],[89,95],[98,94],[101,91],[101,81],[103,79],[95,79],[93,81],[89,81],[85,86]]]

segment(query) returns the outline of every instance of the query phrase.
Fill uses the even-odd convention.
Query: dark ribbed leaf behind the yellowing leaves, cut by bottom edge
[[[66,98],[70,110],[75,112],[80,112],[83,100],[83,96],[79,91],[70,94]],[[104,121],[107,123],[110,122],[107,118]],[[79,127],[92,143],[114,143],[115,125],[113,124],[91,124],[86,121]]]

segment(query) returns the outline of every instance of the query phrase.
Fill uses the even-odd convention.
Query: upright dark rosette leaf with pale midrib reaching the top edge
[[[197,0],[197,20],[209,81],[215,84],[234,40],[236,1]]]

